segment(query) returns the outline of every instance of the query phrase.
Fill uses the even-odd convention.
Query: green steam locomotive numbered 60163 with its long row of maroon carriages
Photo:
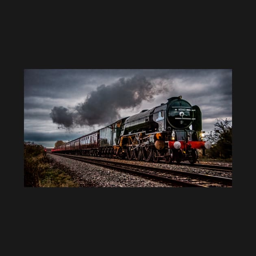
[[[204,133],[199,106],[192,106],[180,95],[51,151],[154,163],[189,161],[193,164],[197,161],[198,149],[212,146],[210,141],[204,141]]]

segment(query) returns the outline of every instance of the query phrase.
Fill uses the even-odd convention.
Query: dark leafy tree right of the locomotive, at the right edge
[[[228,121],[227,118],[216,120],[214,131],[205,136],[205,140],[213,144],[208,155],[211,158],[230,158],[232,157],[232,121]]]

